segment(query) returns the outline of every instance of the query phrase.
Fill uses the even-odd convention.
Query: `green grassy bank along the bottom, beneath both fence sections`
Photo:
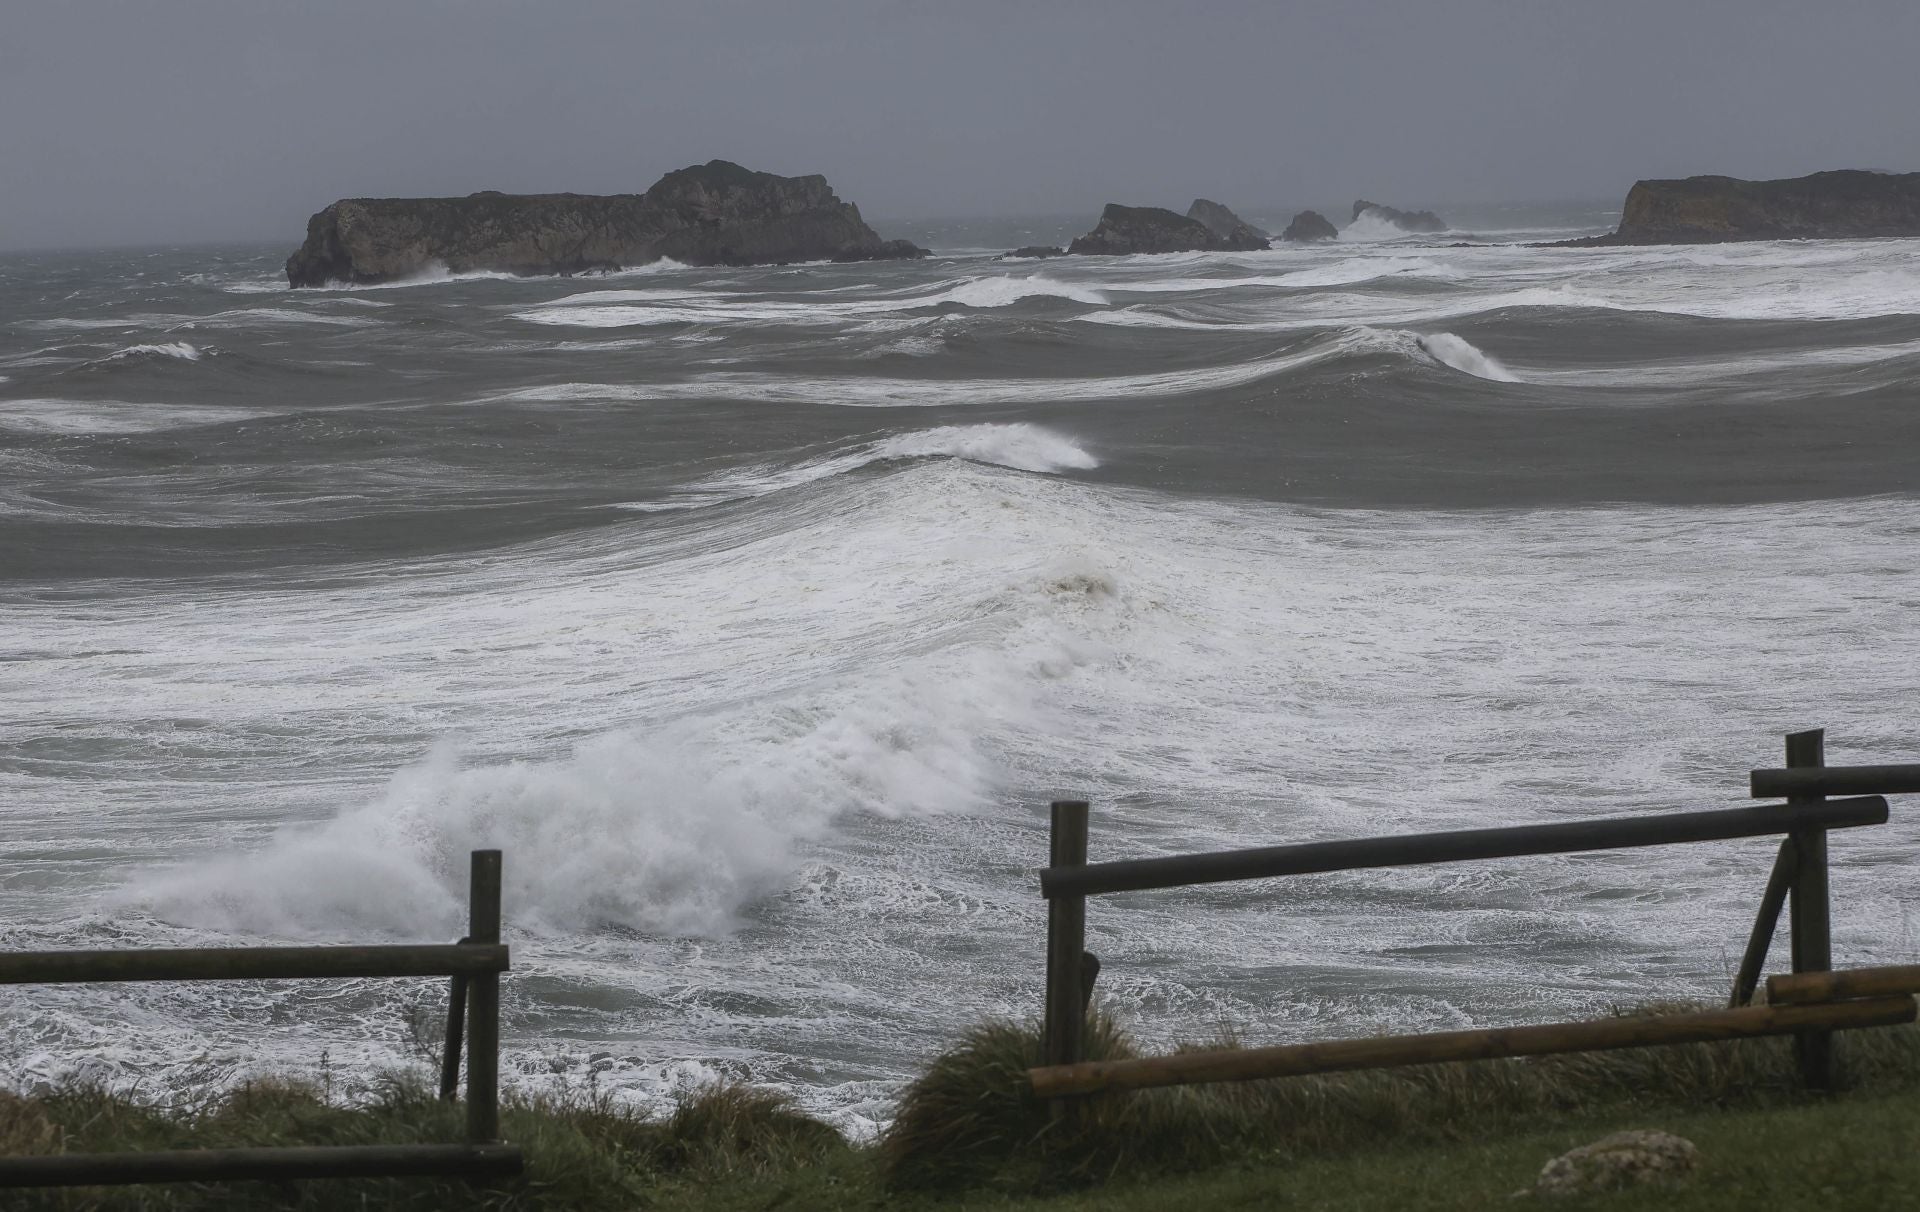
[[[1104,1018],[1091,1041],[1096,1056],[1133,1054]],[[1788,1041],[1757,1039],[1142,1091],[1052,1122],[1025,1093],[1033,1031],[989,1026],[935,1060],[874,1145],[743,1087],[653,1118],[605,1099],[522,1099],[503,1106],[503,1133],[526,1149],[528,1172],[492,1187],[167,1185],[8,1193],[0,1206],[1484,1208],[1549,1156],[1619,1127],[1693,1139],[1699,1176],[1555,1206],[1920,1206],[1920,1028],[1853,1031],[1841,1045],[1847,1089],[1834,1097],[1797,1089]],[[0,1095],[4,1152],[455,1141],[461,1127],[459,1106],[407,1079],[355,1106],[290,1083],[173,1104],[86,1089]]]

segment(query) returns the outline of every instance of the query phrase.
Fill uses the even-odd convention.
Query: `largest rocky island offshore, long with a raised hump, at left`
[[[386,282],[428,269],[518,275],[687,265],[924,257],[881,240],[826,177],[776,177],[726,159],[678,169],[645,194],[344,198],[307,221],[292,286]]]

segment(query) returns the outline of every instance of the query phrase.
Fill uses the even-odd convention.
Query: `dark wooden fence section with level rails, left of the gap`
[[[472,853],[468,930],[459,943],[0,953],[0,983],[4,985],[447,976],[453,983],[440,1095],[451,1099],[457,1093],[461,1039],[465,1035],[465,1143],[0,1156],[0,1187],[428,1174],[478,1179],[520,1174],[520,1149],[499,1141],[499,974],[509,966],[507,945],[499,941],[499,851]]]

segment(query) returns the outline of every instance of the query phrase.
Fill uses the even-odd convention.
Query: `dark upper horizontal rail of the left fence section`
[[[396,947],[177,947],[163,951],[0,953],[0,985],[132,980],[309,980],[474,976],[507,970],[505,943]]]

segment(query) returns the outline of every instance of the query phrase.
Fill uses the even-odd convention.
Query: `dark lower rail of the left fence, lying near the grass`
[[[0,1158],[0,1187],[109,1187],[296,1177],[513,1177],[518,1145],[315,1145],[288,1149],[175,1149],[56,1152]]]

